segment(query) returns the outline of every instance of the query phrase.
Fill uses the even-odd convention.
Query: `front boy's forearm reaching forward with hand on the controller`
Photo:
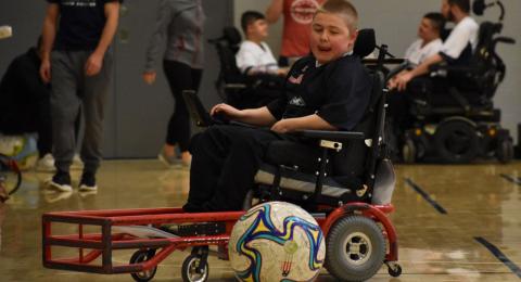
[[[266,106],[258,108],[237,110],[228,104],[217,104],[211,115],[225,115],[226,117],[244,124],[254,126],[271,126],[277,119],[271,115]]]

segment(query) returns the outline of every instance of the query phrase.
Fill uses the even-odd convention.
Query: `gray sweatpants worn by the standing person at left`
[[[74,125],[82,107],[85,136],[81,145],[84,172],[96,174],[102,158],[103,108],[112,80],[112,56],[105,55],[101,72],[85,75],[90,51],[54,51],[51,56],[51,117],[56,169],[68,172],[76,149]]]

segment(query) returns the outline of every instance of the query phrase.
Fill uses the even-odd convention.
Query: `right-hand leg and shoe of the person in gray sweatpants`
[[[88,55],[89,53],[86,52],[86,60]],[[84,78],[80,95],[85,116],[85,137],[80,155],[85,167],[80,180],[80,190],[97,190],[96,172],[103,157],[104,105],[110,93],[113,76],[112,67],[112,54],[106,53],[100,73]]]

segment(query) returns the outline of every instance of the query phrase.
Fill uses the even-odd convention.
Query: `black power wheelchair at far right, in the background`
[[[512,159],[512,138],[500,125],[501,112],[494,107],[493,97],[506,75],[496,46],[512,44],[514,40],[499,36],[505,14],[500,1],[492,4],[474,1],[473,10],[481,15],[485,8],[495,4],[501,9],[499,22],[480,25],[470,64],[434,65],[430,68],[430,78],[420,81],[414,90],[420,95],[410,105],[412,125],[402,139],[405,163],[469,163],[476,157],[496,157],[501,163]],[[439,78],[440,75],[444,78]],[[448,95],[452,102],[436,101],[440,95]]]

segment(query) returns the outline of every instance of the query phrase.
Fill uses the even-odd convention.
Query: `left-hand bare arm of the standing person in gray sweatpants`
[[[56,37],[58,17],[60,16],[60,5],[58,3],[49,3],[43,20],[43,30],[41,31],[42,54],[40,65],[40,76],[43,82],[51,81],[51,51]]]

